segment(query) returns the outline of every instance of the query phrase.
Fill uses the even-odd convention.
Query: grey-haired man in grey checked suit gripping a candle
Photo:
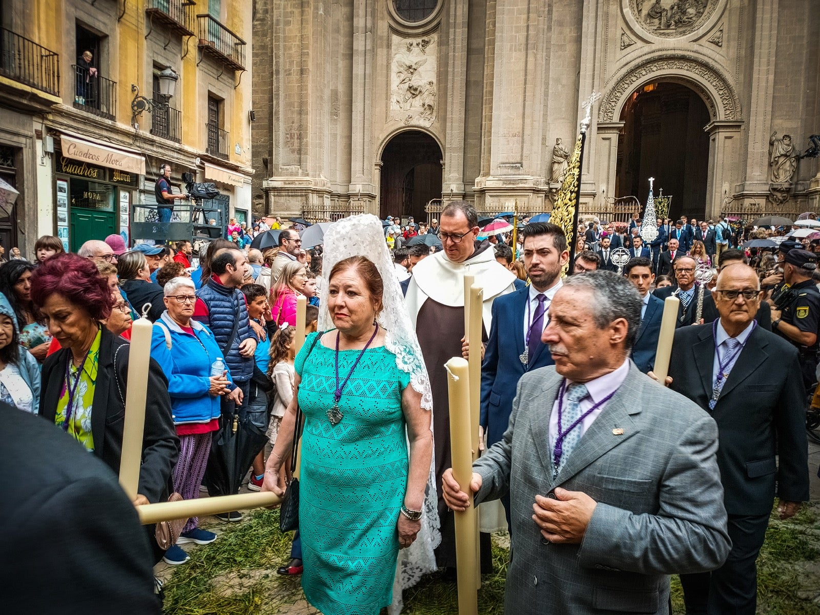
[[[717,426],[629,360],[639,327],[625,278],[567,278],[541,338],[555,367],[522,376],[503,440],[473,464],[476,503],[511,495],[505,613],[667,613],[668,575],[729,553]],[[464,510],[452,469],[443,483]]]

